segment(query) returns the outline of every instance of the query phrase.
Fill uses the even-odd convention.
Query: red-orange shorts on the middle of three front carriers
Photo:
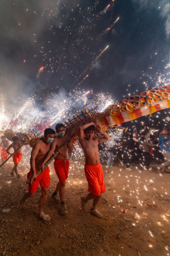
[[[63,183],[68,178],[68,170],[69,170],[69,161],[68,159],[56,159],[54,161],[54,169],[56,171],[56,175],[58,176],[59,183]]]

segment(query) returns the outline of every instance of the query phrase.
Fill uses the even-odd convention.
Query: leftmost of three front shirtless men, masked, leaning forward
[[[45,221],[50,220],[50,216],[43,212],[47,201],[47,193],[50,186],[50,170],[49,166],[43,170],[43,172],[36,178],[36,172],[42,168],[42,163],[47,157],[47,153],[50,149],[50,144],[54,140],[56,132],[50,128],[45,129],[44,137],[42,140],[38,140],[31,152],[31,170],[27,173],[27,184],[29,184],[29,191],[22,197],[20,204],[24,205],[27,198],[35,196],[36,190],[38,189],[38,184],[40,182],[40,187],[42,189],[42,195],[40,196],[40,208],[39,214],[40,218]]]

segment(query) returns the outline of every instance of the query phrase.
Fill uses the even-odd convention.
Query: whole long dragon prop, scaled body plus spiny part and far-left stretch
[[[75,134],[72,138],[72,142],[74,143],[78,138],[78,127],[92,120],[98,127],[105,131],[108,126],[122,124],[141,116],[151,115],[156,111],[169,107],[170,84],[167,84],[166,86],[145,90],[142,93],[123,99],[118,104],[110,105],[102,113],[97,113],[97,107],[95,107],[85,109],[85,111],[81,111],[79,115],[73,115],[72,119],[68,118],[67,122],[65,122],[66,137],[70,138],[72,134]],[[28,141],[31,147],[40,139],[38,136],[30,133],[14,133],[12,129],[4,131],[4,135],[10,141],[12,141],[13,136],[18,136],[20,140]]]

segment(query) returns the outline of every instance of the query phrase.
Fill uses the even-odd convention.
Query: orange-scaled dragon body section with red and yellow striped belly
[[[93,120],[100,127],[112,126],[151,115],[169,107],[170,84],[167,84],[123,99],[118,104],[109,106],[104,112],[96,113]]]

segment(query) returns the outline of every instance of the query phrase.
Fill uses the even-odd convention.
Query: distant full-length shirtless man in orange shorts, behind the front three
[[[22,145],[22,143],[20,142],[19,138],[17,136],[14,136],[12,138],[13,143],[6,149],[6,153],[10,154],[13,157],[13,169],[12,172],[10,173],[10,175],[14,176],[14,172],[17,175],[17,179],[20,179],[20,175],[19,175],[19,163],[22,159],[22,147],[20,147]],[[19,148],[20,147],[20,148]],[[10,153],[10,149],[13,148],[15,151],[15,154],[11,154]],[[19,148],[19,149],[18,149]],[[18,149],[18,150],[17,150]]]

